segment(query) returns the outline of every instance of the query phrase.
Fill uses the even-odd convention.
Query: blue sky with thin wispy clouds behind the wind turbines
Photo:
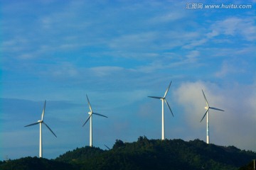
[[[1,155],[43,157],[89,145],[89,111],[95,112],[95,147],[115,140],[166,138],[206,141],[256,152],[255,1],[1,1]],[[206,8],[206,4],[252,8]]]

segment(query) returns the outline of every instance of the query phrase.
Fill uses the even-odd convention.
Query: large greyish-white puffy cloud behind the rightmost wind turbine
[[[181,84],[176,91],[178,103],[185,109],[186,123],[198,132],[199,128],[206,126],[205,120],[200,123],[205,113],[201,89],[205,92],[210,106],[224,110],[212,110],[209,113],[210,141],[216,145],[235,145],[241,149],[255,150],[256,110],[252,105],[255,94],[250,93],[253,86],[238,85],[220,89],[215,84],[203,81]],[[205,140],[204,137],[202,140]]]

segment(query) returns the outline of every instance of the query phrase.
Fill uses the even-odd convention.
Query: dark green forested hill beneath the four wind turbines
[[[1,162],[0,169],[247,169],[256,152],[207,145],[201,140],[117,140],[110,150],[82,147],[52,160],[36,157]]]

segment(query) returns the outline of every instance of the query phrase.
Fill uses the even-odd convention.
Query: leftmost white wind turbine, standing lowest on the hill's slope
[[[43,140],[43,139],[42,139],[42,123],[43,123],[44,125],[46,125],[46,123],[44,123],[44,121],[43,121],[43,116],[44,116],[45,111],[46,111],[46,101],[45,101],[45,104],[44,104],[44,106],[43,106],[43,113],[42,113],[41,120],[38,120],[36,123],[32,123],[32,124],[30,124],[30,125],[24,126],[24,127],[28,127],[28,126],[31,126],[31,125],[37,125],[37,124],[39,124],[39,157],[40,157],[40,158],[43,157],[43,148],[42,148],[42,140]],[[46,125],[46,127],[50,130],[50,132],[53,133],[53,135],[55,135],[55,133],[53,132],[53,130],[51,130],[48,125]],[[57,137],[57,136],[55,135],[55,137]]]

